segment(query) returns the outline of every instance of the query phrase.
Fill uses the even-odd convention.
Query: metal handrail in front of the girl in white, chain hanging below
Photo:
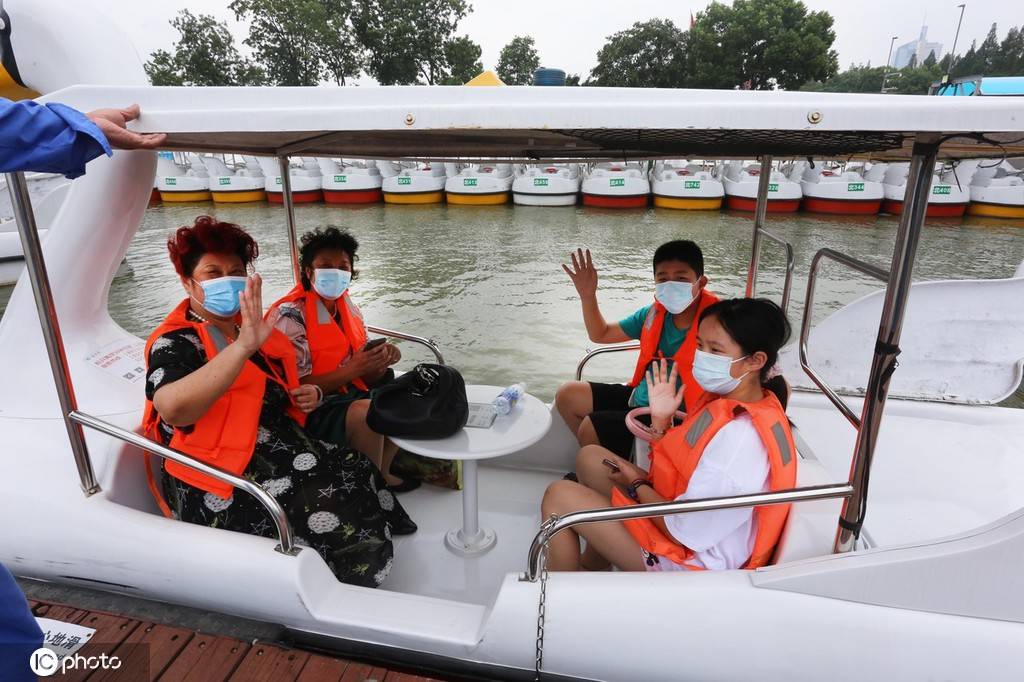
[[[537,582],[544,566],[542,554],[544,547],[558,532],[581,523],[596,523],[598,521],[625,521],[635,518],[651,518],[669,516],[671,514],[688,514],[691,512],[714,511],[716,509],[736,509],[740,507],[764,507],[782,505],[793,502],[812,502],[814,500],[833,500],[849,498],[853,495],[850,483],[828,483],[826,485],[808,485],[794,487],[774,493],[756,493],[753,495],[733,495],[723,498],[701,498],[699,500],[684,500],[682,502],[655,502],[645,505],[630,505],[629,507],[603,507],[577,511],[565,516],[552,517],[554,520],[538,531],[529,546],[526,572],[523,581]]]

